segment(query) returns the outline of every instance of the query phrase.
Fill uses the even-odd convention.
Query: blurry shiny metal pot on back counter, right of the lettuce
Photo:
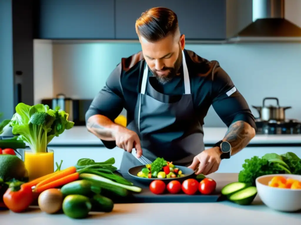
[[[73,121],[73,100],[67,98],[65,94],[57,94],[56,98],[52,99],[52,109],[65,111],[69,114],[68,120]]]

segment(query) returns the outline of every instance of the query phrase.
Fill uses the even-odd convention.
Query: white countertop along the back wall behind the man
[[[214,144],[221,140],[227,128],[203,128],[204,143]],[[280,135],[264,135],[257,134],[250,144],[288,144],[301,143],[300,134],[280,134]],[[54,137],[50,145],[98,145],[102,144],[101,140],[87,131],[84,126],[75,126],[70,130],[65,130],[59,137]]]

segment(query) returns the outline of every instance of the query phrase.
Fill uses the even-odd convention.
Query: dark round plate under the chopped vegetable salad
[[[192,178],[192,177],[195,177],[195,174],[194,174],[194,170],[191,170],[190,168],[188,167],[182,167],[182,166],[176,166],[177,168],[179,168],[179,170],[182,170],[182,174],[184,174],[185,176],[182,176],[182,177],[174,177],[174,178],[144,178],[144,177],[138,177],[137,176],[137,173],[139,173],[142,168],[144,168],[144,166],[137,166],[137,167],[132,167],[131,169],[129,169],[129,175],[131,175],[131,177],[138,181],[138,182],[141,182],[141,183],[144,183],[144,184],[150,184],[152,181],[154,180],[162,180],[164,181],[166,184],[169,183],[170,181],[173,181],[173,180],[177,180],[179,182],[183,182],[184,180],[188,179],[188,178]]]

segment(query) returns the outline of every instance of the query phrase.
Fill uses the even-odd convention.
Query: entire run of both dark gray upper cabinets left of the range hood
[[[226,38],[226,0],[37,0],[41,39],[135,39],[135,22],[152,7],[178,16],[187,40]]]

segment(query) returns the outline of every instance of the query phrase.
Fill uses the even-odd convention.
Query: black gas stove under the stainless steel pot
[[[287,119],[284,121],[256,120],[256,134],[301,134],[301,121]]]

